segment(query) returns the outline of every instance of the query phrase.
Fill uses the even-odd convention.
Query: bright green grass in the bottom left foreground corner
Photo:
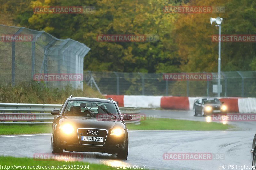
[[[103,165],[103,164],[91,164],[91,163],[79,162],[79,161],[66,162],[66,161],[56,161],[56,160],[34,160],[32,158],[15,158],[10,156],[8,157],[0,156],[0,165],[1,166],[5,165],[5,168],[2,167],[3,169],[11,169],[12,165],[15,165],[14,169],[47,169],[43,167],[40,168],[40,166],[44,166],[44,167],[52,166],[49,169],[65,169],[65,167],[66,169],[78,169],[77,167],[79,167],[79,169],[88,169],[87,167],[89,167],[90,170],[109,169],[107,165]],[[62,166],[63,168],[60,166]],[[71,168],[72,166],[73,168]],[[84,166],[86,166],[86,168],[84,168]]]

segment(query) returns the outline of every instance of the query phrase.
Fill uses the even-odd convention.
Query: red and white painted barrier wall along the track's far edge
[[[120,107],[163,108],[192,110],[195,99],[199,97],[107,95],[118,102]],[[228,107],[228,112],[256,113],[256,98],[219,98]]]

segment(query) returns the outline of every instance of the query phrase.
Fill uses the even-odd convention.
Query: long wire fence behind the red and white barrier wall
[[[207,81],[170,81],[165,80],[163,74],[86,71],[84,81],[102,94],[217,96],[217,73],[210,74],[213,78]],[[220,80],[221,96],[256,96],[255,71],[221,72]]]

